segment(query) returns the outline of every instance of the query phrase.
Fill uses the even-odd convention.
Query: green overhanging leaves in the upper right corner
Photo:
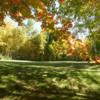
[[[99,9],[99,0],[65,0],[65,3],[60,7],[60,12],[64,18],[67,16],[73,21],[77,19],[78,22],[75,26],[79,30],[82,27],[93,30],[94,28],[99,27]],[[79,21],[83,21],[83,24],[79,23]]]

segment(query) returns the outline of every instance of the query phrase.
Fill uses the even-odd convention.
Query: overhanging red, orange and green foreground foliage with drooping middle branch
[[[76,21],[73,28],[77,28],[78,32],[88,29],[90,34],[96,33],[100,23],[99,9],[99,0],[3,0],[0,1],[0,24],[3,24],[6,15],[10,15],[19,25],[26,18],[41,21],[43,31],[52,39],[47,41],[47,45],[52,48],[60,44],[60,39],[66,38],[64,40],[67,41],[67,36],[71,34],[68,29],[73,21]],[[58,24],[62,27],[56,27]]]

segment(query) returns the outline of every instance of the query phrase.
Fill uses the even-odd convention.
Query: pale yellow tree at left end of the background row
[[[15,52],[23,45],[25,38],[25,30],[21,27],[0,27],[0,53],[15,58]]]

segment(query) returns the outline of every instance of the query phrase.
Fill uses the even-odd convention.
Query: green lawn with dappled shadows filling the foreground
[[[100,100],[100,65],[1,61],[0,100]]]

